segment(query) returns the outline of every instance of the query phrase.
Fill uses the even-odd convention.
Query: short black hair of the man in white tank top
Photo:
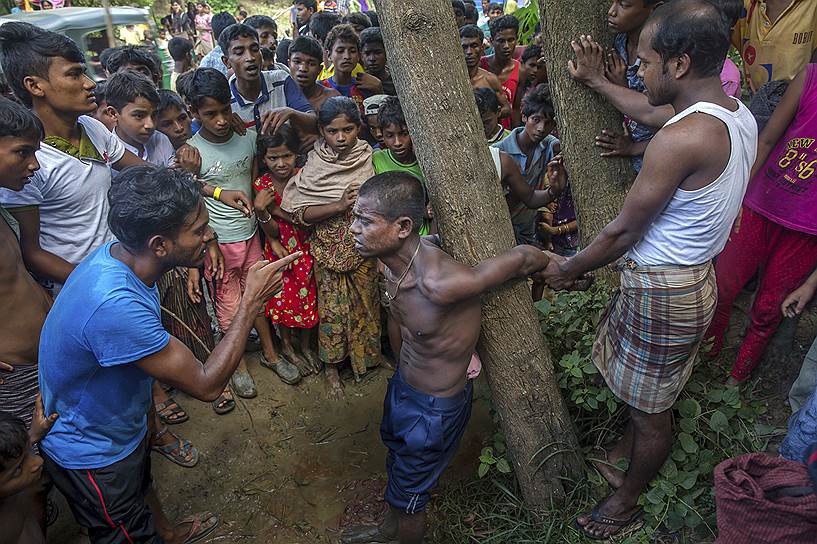
[[[698,77],[714,77],[723,70],[730,28],[721,10],[711,2],[673,0],[655,8],[646,24],[655,25],[650,47],[664,63],[687,55],[690,72]]]

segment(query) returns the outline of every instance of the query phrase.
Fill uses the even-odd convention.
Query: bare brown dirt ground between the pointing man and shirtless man
[[[209,510],[221,525],[202,543],[313,544],[338,541],[341,526],[385,513],[385,448],[380,441],[383,397],[392,371],[381,368],[361,384],[349,374],[346,399],[330,401],[322,376],[283,384],[249,354],[258,397],[216,415],[209,404],[176,398],[190,420],[172,430],[200,452],[193,468],[154,453],[153,477],[166,513],[181,519]],[[475,397],[487,387],[478,379]],[[493,433],[486,403],[476,400],[452,469],[441,485],[476,474],[483,440]],[[56,494],[58,496],[58,494]],[[88,542],[65,501],[49,544]]]

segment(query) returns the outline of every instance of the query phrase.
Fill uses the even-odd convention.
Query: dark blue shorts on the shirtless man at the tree
[[[383,402],[380,436],[389,449],[386,502],[407,514],[422,512],[430,491],[457,452],[471,417],[473,386],[434,397],[417,391],[394,373]]]

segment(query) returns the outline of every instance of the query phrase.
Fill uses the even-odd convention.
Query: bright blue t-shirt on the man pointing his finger
[[[162,350],[159,292],[108,242],[68,277],[40,334],[40,391],[59,419],[40,447],[67,469],[127,457],[147,432],[153,378],[135,364]]]

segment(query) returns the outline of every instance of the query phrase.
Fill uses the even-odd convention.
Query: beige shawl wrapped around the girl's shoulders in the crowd
[[[363,140],[358,140],[349,153],[339,156],[321,138],[309,152],[307,164],[284,189],[281,208],[287,212],[340,200],[347,187],[362,185],[374,176],[372,148]]]

